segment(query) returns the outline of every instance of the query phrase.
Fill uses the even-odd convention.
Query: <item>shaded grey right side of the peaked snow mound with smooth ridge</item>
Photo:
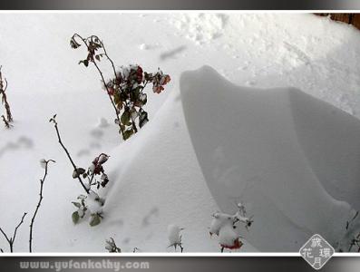
[[[238,87],[210,67],[183,73],[190,138],[224,212],[245,201],[244,233],[260,251],[297,251],[313,233],[330,243],[360,208],[360,121],[293,88]]]

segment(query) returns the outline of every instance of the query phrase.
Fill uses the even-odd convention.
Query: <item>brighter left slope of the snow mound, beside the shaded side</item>
[[[112,187],[101,228],[123,251],[137,247],[145,252],[173,252],[168,238],[170,242],[179,238],[179,232],[178,227],[170,227],[167,237],[171,224],[185,228],[181,232],[184,252],[219,252],[217,239],[209,236],[211,214],[219,208],[199,169],[180,92],[172,92],[141,132],[109,155]],[[123,238],[130,242],[122,243]],[[247,244],[241,248],[254,250]]]

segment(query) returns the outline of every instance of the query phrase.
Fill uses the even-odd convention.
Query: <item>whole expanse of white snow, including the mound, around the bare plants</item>
[[[129,141],[120,140],[95,69],[78,65],[85,52],[70,48],[74,33],[102,37],[119,66],[170,74],[165,92],[148,92],[150,122]],[[12,233],[34,212],[39,160],[56,160],[35,252],[104,252],[110,237],[125,252],[173,252],[171,224],[184,228],[185,252],[219,252],[211,215],[233,213],[238,201],[254,216],[239,229],[239,252],[297,251],[315,232],[336,246],[360,209],[360,32],[352,26],[306,14],[1,14],[0,38],[15,117],[14,128],[0,127],[1,228]],[[83,191],[48,122],[54,113],[79,166],[111,156],[96,227],[73,225],[71,201]],[[15,251],[27,251],[29,219]]]

